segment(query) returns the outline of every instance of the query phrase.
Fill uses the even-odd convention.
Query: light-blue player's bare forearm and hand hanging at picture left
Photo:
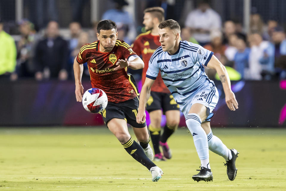
[[[145,79],[144,85],[140,93],[138,113],[136,117],[137,123],[144,123],[145,121],[146,118],[145,105],[150,97],[150,91],[154,81],[155,80],[152,80],[150,78]]]

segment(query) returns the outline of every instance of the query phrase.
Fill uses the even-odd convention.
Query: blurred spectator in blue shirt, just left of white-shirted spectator
[[[241,78],[244,79],[244,70],[248,68],[248,60],[250,48],[247,47],[246,38],[244,36],[237,36],[234,44],[237,49],[237,53],[234,55],[234,69],[237,70]]]

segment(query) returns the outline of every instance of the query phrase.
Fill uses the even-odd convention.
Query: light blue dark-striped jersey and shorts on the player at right
[[[214,82],[206,76],[203,67],[207,66],[212,55],[213,52],[188,41],[180,41],[179,49],[174,55],[164,52],[162,47],[159,47],[149,60],[146,77],[155,80],[161,71],[164,83],[185,116],[189,112],[187,110],[190,109],[190,101],[195,97],[198,98],[198,102],[206,102],[204,105],[212,110],[216,105],[212,103],[212,99],[215,96],[217,102],[218,93]]]

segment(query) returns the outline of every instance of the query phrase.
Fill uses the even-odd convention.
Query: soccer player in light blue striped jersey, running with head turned
[[[207,66],[215,69],[220,76],[226,95],[226,104],[231,111],[238,109],[238,103],[231,91],[226,68],[213,55],[198,44],[180,41],[180,26],[172,19],[159,24],[161,47],[151,56],[146,80],[141,90],[137,123],[145,120],[145,105],[150,96],[151,86],[159,72],[172,93],[180,110],[186,118],[186,125],[193,136],[195,147],[201,161],[200,172],[193,175],[195,181],[212,181],[209,164],[209,150],[226,160],[228,178],[233,181],[237,168],[237,150],[228,149],[212,134],[210,118],[218,101],[218,92],[212,80],[204,72]]]

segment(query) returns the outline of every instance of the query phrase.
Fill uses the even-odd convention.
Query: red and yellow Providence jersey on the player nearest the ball
[[[108,101],[119,103],[138,96],[135,84],[127,74],[127,67],[114,71],[118,59],[136,55],[131,47],[122,40],[116,40],[111,52],[103,53],[99,50],[100,41],[83,45],[77,55],[77,62],[87,62],[91,79],[91,87],[103,90]]]

